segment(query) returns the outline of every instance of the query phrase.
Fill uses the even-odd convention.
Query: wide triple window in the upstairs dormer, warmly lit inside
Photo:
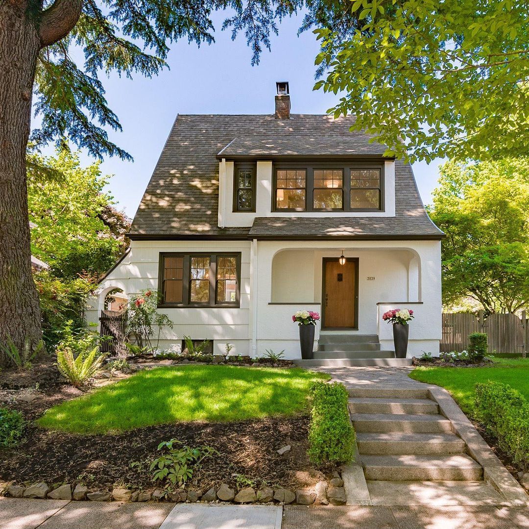
[[[283,165],[273,171],[273,211],[384,211],[382,163]]]

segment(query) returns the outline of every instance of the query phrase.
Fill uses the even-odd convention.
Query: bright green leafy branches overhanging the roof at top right
[[[325,78],[409,159],[525,156],[529,145],[529,4],[512,0],[352,0],[349,26],[316,33]]]

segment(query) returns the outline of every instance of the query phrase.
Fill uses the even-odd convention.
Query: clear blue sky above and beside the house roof
[[[178,113],[271,114],[277,80],[290,83],[293,113],[324,113],[336,101],[333,94],[312,90],[318,44],[311,32],[296,36],[301,16],[280,25],[279,37],[272,38],[272,51],[263,52],[260,64],[253,67],[244,35],[232,41],[229,31],[220,30],[223,18],[222,13],[215,14],[215,44],[200,48],[187,41],[173,44],[170,69],[158,77],[102,79],[108,103],[123,126],[123,132],[111,131],[110,137],[134,157],[133,163],[106,159],[102,170],[114,175],[110,190],[130,217]],[[83,156],[83,162],[90,159]],[[425,203],[436,185],[439,163],[413,166]]]

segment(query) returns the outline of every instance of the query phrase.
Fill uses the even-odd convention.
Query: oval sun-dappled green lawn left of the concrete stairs
[[[157,367],[49,409],[38,424],[109,434],[177,422],[231,422],[307,411],[308,390],[325,374],[228,365]]]

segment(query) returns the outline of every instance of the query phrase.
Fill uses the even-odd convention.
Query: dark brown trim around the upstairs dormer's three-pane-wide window
[[[362,213],[362,212],[377,212],[384,213],[385,209],[385,173],[384,173],[384,161],[378,160],[377,162],[351,162],[351,160],[344,160],[344,162],[315,162],[313,164],[304,163],[277,163],[273,164],[272,168],[272,203],[271,211],[275,213],[281,212],[308,212],[308,213],[321,213],[321,212],[337,212],[344,211],[350,213]],[[305,208],[277,208],[276,207],[276,195],[277,195],[277,171],[282,169],[305,169],[306,181],[305,181]],[[317,169],[341,169],[343,171],[343,208],[342,209],[316,209],[314,205],[314,170]],[[380,207],[379,208],[351,208],[350,196],[351,196],[351,169],[380,169]]]

